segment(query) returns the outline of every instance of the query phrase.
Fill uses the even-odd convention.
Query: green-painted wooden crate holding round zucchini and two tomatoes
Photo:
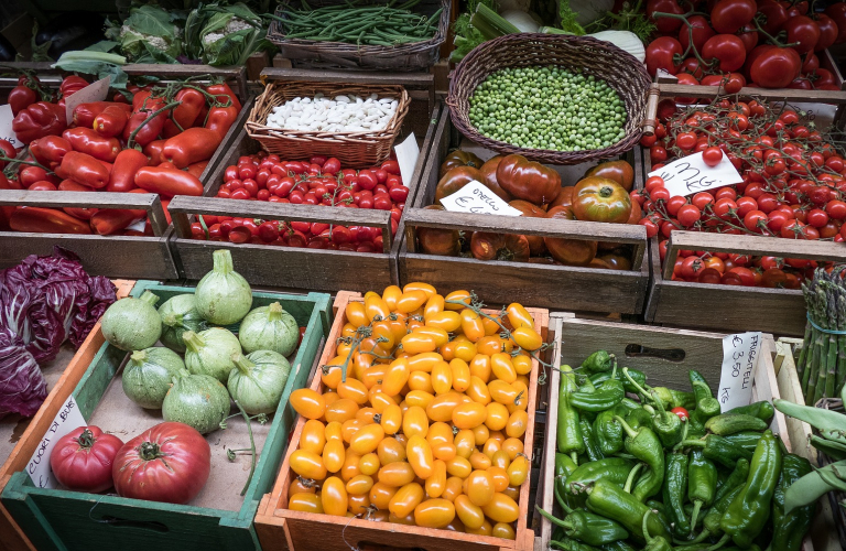
[[[139,282],[132,295],[139,296],[147,290],[158,294],[162,302],[194,291],[148,281]],[[291,375],[279,409],[267,424],[252,424],[260,453],[246,496],[238,494],[247,479],[249,455],[240,455],[236,463],[226,460],[227,447],[249,447],[245,422],[236,417],[227,422],[227,431],[207,436],[212,445],[212,476],[189,505],[36,488],[26,473],[12,473],[1,496],[2,504],[35,548],[108,549],[120,541],[120,549],[126,550],[145,550],[151,544],[181,549],[259,549],[252,519],[261,496],[273,484],[294,421],[288,396],[306,383],[328,332],[328,295],[253,292],[256,306],[275,301],[282,303],[299,325],[306,326],[306,332],[291,359]],[[127,353],[104,344],[90,364],[76,365],[84,375],[73,392],[88,422],[116,432],[124,441],[162,421],[159,412],[134,406],[123,393],[116,374],[127,358]],[[53,406],[48,402],[45,409]],[[42,435],[43,430],[33,431],[22,444],[36,445]]]

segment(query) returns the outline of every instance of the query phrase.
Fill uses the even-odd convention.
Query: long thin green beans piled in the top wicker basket
[[[426,18],[410,8],[420,0],[400,6],[357,6],[346,2],[312,10],[305,2],[301,10],[285,10],[276,17],[286,39],[344,42],[358,45],[395,46],[432,40],[437,32],[441,9]]]

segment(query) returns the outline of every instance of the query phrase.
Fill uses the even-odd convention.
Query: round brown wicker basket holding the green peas
[[[470,96],[488,75],[507,67],[557,65],[584,71],[617,90],[626,104],[626,137],[610,148],[586,151],[523,149],[482,136],[470,123]],[[551,164],[579,164],[629,151],[642,136],[650,78],[643,64],[610,42],[588,36],[519,33],[485,42],[458,64],[449,83],[453,123],[474,142],[497,153],[519,153]]]

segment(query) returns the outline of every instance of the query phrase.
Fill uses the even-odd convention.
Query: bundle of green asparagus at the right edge
[[[846,379],[846,267],[831,273],[817,269],[814,280],[802,284],[809,323],[796,363],[805,403],[835,398]]]

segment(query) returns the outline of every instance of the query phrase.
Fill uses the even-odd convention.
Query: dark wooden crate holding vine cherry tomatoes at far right
[[[653,85],[654,87],[654,85]],[[659,85],[660,97],[690,95],[691,86]],[[711,88],[711,89],[708,89]],[[713,98],[715,87],[696,87],[696,96]],[[836,104],[838,117],[844,114],[845,91],[821,90],[762,90],[744,88],[742,95],[753,94],[771,101]],[[657,96],[658,97],[658,96]],[[643,151],[643,177],[652,170],[647,151]],[[698,231],[673,231],[668,244],[664,269],[658,252],[657,237],[650,241],[652,281],[647,302],[646,318],[649,322],[681,327],[715,331],[763,331],[777,335],[804,335],[805,300],[801,290],[766,289],[759,287],[733,287],[707,283],[671,281],[672,266],[677,251],[708,250],[736,252],[779,258],[807,258],[812,260],[846,261],[846,248],[828,241],[794,241],[791,239],[729,236]]]

